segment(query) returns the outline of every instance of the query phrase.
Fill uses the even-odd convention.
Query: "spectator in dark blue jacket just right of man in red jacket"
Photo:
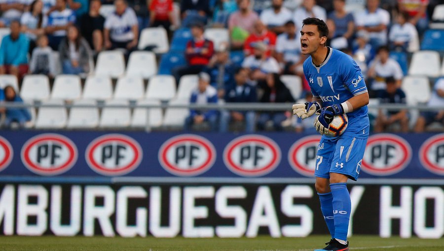
[[[205,68],[205,72],[210,75],[210,84],[218,90],[218,96],[223,98],[225,89],[229,85],[234,85],[235,65],[230,61],[228,55],[228,45],[222,44],[217,48],[216,54],[211,58]]]

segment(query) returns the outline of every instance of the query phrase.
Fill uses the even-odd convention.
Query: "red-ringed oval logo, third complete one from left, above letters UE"
[[[204,137],[183,134],[163,143],[158,157],[162,167],[171,174],[195,176],[213,166],[216,150]]]

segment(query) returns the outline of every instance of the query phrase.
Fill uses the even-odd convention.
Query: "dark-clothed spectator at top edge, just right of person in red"
[[[209,0],[181,0],[182,26],[190,27],[193,23],[207,23],[211,15]]]

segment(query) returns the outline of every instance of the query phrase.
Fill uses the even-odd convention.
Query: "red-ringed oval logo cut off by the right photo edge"
[[[444,133],[433,136],[422,144],[419,160],[427,170],[444,175]]]

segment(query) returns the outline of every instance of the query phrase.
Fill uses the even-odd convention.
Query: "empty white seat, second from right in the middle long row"
[[[170,75],[156,75],[149,79],[147,98],[170,100],[176,95],[176,80]]]

